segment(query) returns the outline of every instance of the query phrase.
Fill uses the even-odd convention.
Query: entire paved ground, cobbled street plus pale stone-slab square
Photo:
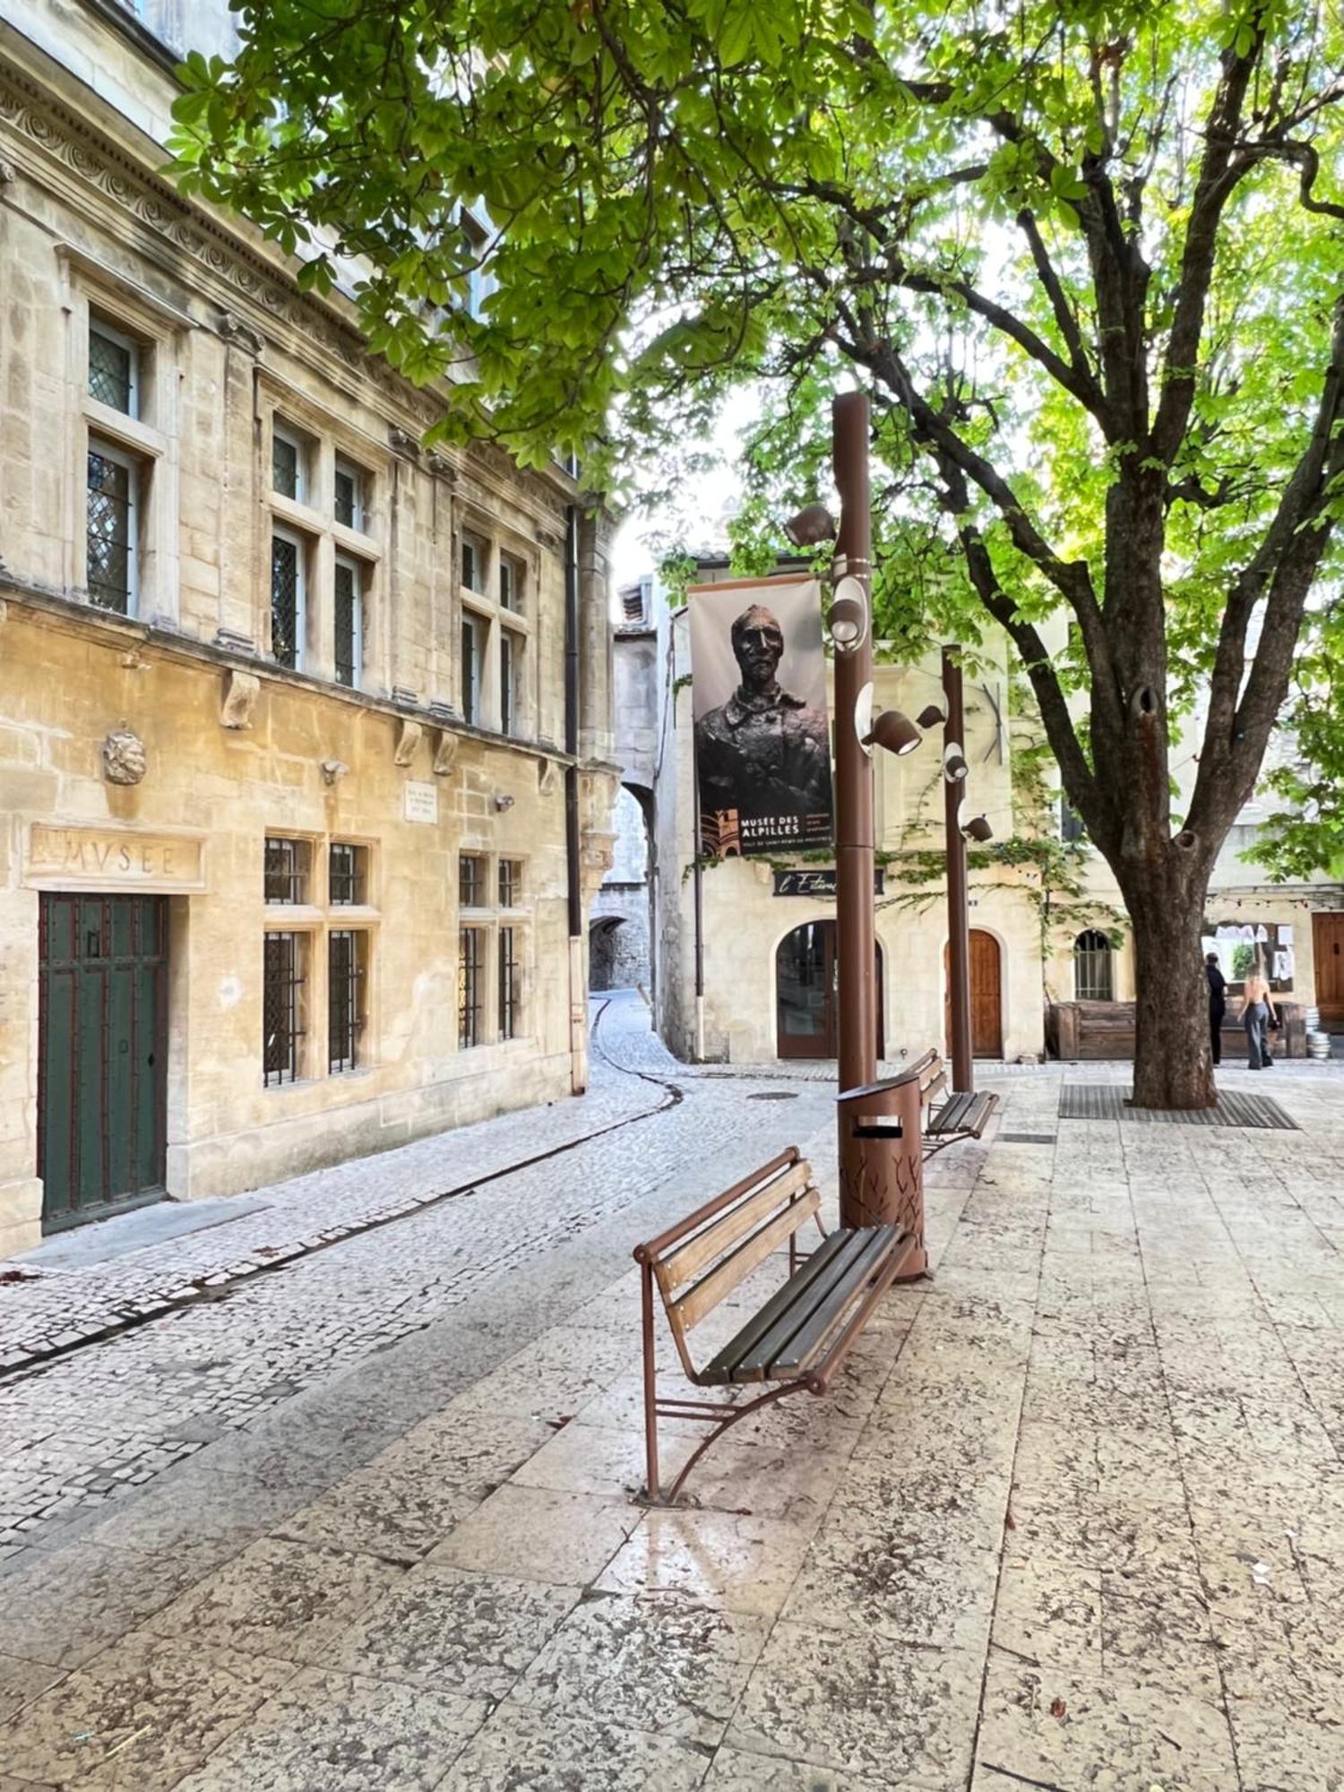
[[[0,1391],[0,1792],[1340,1792],[1339,1068],[1290,1131],[986,1077],[934,1279],[643,1512],[631,1245],[788,1140],[830,1188],[831,1084],[629,996],[597,1045],[584,1102],[4,1287],[16,1349],[186,1305]]]

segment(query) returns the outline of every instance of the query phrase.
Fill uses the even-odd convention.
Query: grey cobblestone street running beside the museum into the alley
[[[749,1100],[754,1090],[686,1077],[649,1032],[645,1005],[618,996],[599,1021],[582,1100],[297,1177],[258,1190],[249,1202],[260,1206],[240,1219],[0,1285],[0,1358],[14,1366],[0,1382],[0,1548],[48,1536],[423,1330],[685,1174],[688,1159],[702,1158],[713,1181],[715,1154],[769,1156],[783,1122],[774,1102]],[[787,1106],[788,1125],[810,1133],[830,1115],[830,1086]],[[452,1188],[462,1193],[441,1199]],[[81,1344],[77,1326],[95,1342]],[[25,1346],[39,1358],[61,1340],[68,1355],[22,1369]]]

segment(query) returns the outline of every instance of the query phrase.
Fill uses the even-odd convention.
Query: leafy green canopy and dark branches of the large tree
[[[609,486],[728,385],[767,380],[765,495],[815,475],[837,385],[871,391],[891,631],[1007,631],[1152,978],[1176,950],[1158,909],[1202,901],[1335,561],[1339,16],[238,11],[238,59],[185,70],[179,176],[301,251],[312,285],[351,287],[410,376],[450,375],[444,435],[534,462],[577,450]],[[486,246],[462,204],[489,217]],[[482,260],[495,290],[466,315]],[[1193,1000],[1193,975],[1183,987]],[[1140,1059],[1143,1016],[1142,998]]]

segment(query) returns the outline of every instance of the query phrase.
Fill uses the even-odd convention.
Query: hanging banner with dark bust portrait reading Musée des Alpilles
[[[710,858],[830,846],[831,749],[821,584],[810,573],[694,584],[701,849]]]

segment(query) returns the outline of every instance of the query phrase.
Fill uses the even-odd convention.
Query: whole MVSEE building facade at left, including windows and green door
[[[161,179],[181,43],[5,18],[13,1251],[581,1090],[616,781],[573,470],[425,453],[441,398]]]

